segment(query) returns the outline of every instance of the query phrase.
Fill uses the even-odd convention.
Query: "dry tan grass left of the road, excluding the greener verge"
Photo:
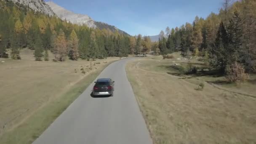
[[[86,84],[91,83],[91,78],[87,76],[96,77],[96,74],[111,61],[119,59],[113,57],[96,60],[97,65],[90,67],[90,61],[85,60],[34,61],[32,53],[33,51],[24,49],[21,52],[21,60],[0,59],[0,61],[5,61],[0,63],[0,136],[5,133],[14,133],[21,125],[31,120],[31,117],[38,115],[37,112],[40,111],[40,108],[47,109],[50,103],[60,99],[65,93],[70,91],[77,93],[74,89],[79,87],[78,84],[81,81]],[[53,59],[52,54],[50,54],[50,59]],[[85,69],[85,73],[80,72],[81,68]],[[80,85],[84,84],[80,83]],[[83,90],[86,88],[85,86],[83,86]],[[69,103],[74,100],[68,99]],[[61,100],[58,103],[61,103]],[[65,106],[69,104],[67,101],[63,103]],[[45,112],[44,115],[47,113]],[[55,117],[50,121],[59,114],[53,113],[52,115]],[[43,117],[43,115],[41,116]],[[42,123],[40,125],[47,128],[47,125]]]

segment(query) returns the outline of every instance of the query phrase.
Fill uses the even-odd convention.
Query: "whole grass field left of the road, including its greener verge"
[[[21,60],[0,59],[0,144],[34,141],[108,64],[119,59],[34,61],[28,49],[21,51]]]

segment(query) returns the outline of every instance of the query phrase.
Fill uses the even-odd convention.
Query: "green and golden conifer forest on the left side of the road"
[[[22,48],[35,50],[35,60],[55,61],[127,56],[130,36],[109,29],[93,29],[62,21],[56,16],[34,12],[24,5],[0,1],[0,57],[22,59]],[[6,51],[10,49],[11,55]]]

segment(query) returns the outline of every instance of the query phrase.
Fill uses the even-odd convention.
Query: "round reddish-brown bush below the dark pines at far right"
[[[243,66],[237,62],[227,66],[225,71],[227,74],[226,79],[229,82],[241,83],[249,78],[249,75],[245,73]]]

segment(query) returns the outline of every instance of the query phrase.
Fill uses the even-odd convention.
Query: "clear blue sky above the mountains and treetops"
[[[49,1],[49,0],[45,0]],[[223,0],[52,0],[75,13],[87,14],[130,35],[158,35],[167,26],[192,23],[195,16],[218,13]]]

